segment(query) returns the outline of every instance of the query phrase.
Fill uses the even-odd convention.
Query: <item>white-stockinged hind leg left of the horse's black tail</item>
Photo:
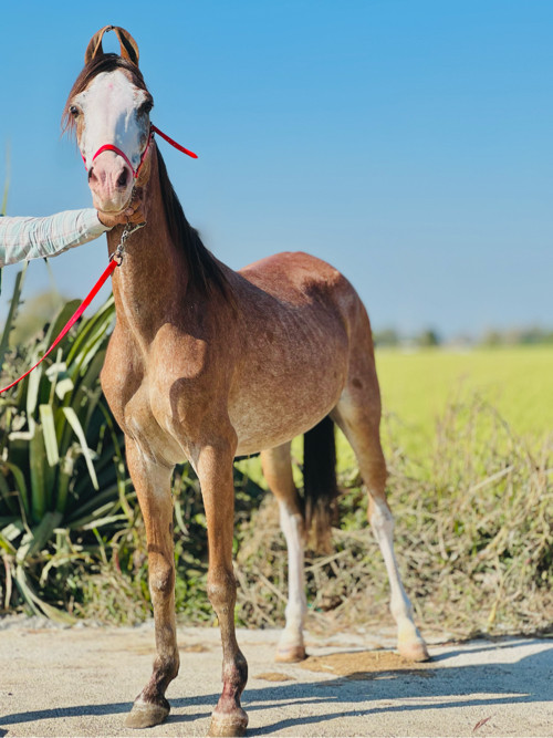
[[[299,662],[305,658],[303,626],[307,612],[304,581],[304,520],[300,497],[292,476],[290,444],[261,451],[263,475],[280,509],[280,524],[288,548],[289,599],[285,626],[276,648],[276,662]]]

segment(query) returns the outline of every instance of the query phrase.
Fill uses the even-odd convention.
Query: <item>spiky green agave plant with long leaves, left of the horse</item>
[[[33,365],[77,305],[67,302],[30,350],[7,353],[22,277],[23,272],[18,276],[0,340],[4,376],[13,374],[12,366],[22,358]],[[4,564],[0,607],[6,610],[23,601],[35,613],[66,620],[66,613],[49,604],[42,593],[48,590],[48,599],[54,592],[58,600],[66,600],[70,564],[91,557],[86,531],[96,541],[97,529],[133,514],[125,497],[128,482],[121,436],[98,381],[113,321],[109,298],[92,318],[81,319],[60,343],[53,361],[49,357],[0,396],[0,550]]]

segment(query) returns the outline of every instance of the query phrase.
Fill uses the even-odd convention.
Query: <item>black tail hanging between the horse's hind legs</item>
[[[303,437],[303,501],[305,530],[317,551],[331,550],[331,529],[337,522],[336,441],[326,416]]]

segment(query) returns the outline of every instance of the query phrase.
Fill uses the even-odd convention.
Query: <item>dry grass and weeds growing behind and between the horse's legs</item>
[[[406,454],[397,418],[383,427],[396,553],[425,632],[551,630],[553,613],[553,437],[538,448],[517,437],[487,403],[451,405],[432,448]],[[237,472],[237,622],[283,624],[288,557],[273,497]],[[306,554],[309,627],[330,632],[393,625],[388,583],[366,522],[358,472],[342,474],[342,528],[334,550]],[[177,489],[178,488],[178,489]],[[180,491],[179,491],[180,490]],[[177,611],[182,623],[213,623],[206,593],[207,545],[199,486],[176,482]],[[105,545],[95,575],[82,573],[74,614],[136,622],[150,612],[140,517]]]

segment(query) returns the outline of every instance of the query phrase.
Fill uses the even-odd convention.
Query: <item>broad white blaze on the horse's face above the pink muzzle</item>
[[[136,170],[147,143],[147,116],[137,111],[147,100],[147,93],[134,86],[119,70],[98,74],[73,103],[84,116],[79,147],[86,168],[93,166],[96,152],[107,144],[116,146]]]

